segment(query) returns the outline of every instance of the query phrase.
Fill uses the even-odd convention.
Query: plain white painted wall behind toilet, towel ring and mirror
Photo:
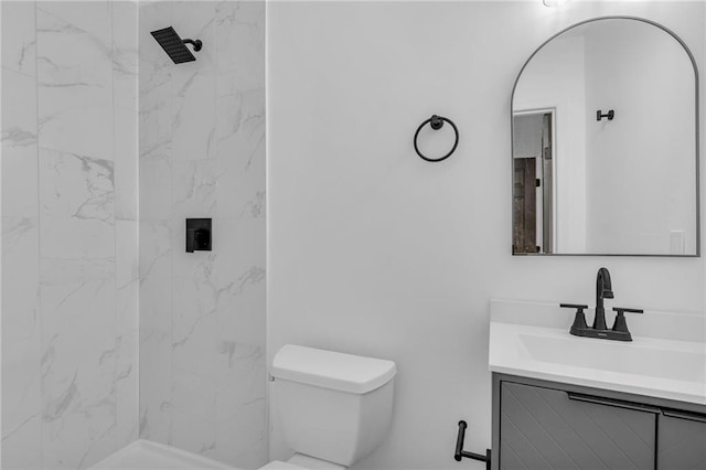
[[[397,362],[392,432],[360,468],[480,468],[452,451],[460,418],[467,449],[490,445],[492,297],[593,303],[605,265],[609,306],[703,312],[702,258],[510,254],[510,95],[525,60],[577,21],[630,14],[673,29],[703,68],[703,9],[270,4],[268,356],[291,342]],[[411,147],[434,113],[461,132],[442,163]],[[272,415],[271,455],[286,457]]]

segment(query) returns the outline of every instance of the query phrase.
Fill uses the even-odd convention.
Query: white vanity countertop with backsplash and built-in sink
[[[569,334],[574,312],[558,303],[492,300],[489,368],[706,405],[704,316],[629,316],[633,341],[622,342]],[[589,310],[589,324],[592,316]]]

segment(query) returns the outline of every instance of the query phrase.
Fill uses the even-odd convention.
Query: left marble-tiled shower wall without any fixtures
[[[2,2],[2,463],[138,432],[137,4]]]

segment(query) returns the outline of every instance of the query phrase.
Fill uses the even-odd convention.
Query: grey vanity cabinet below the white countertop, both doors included
[[[706,406],[493,373],[493,470],[706,470]]]

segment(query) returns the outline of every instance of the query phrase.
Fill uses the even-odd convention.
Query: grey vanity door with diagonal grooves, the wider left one
[[[654,412],[511,382],[500,410],[503,470],[654,470]]]

